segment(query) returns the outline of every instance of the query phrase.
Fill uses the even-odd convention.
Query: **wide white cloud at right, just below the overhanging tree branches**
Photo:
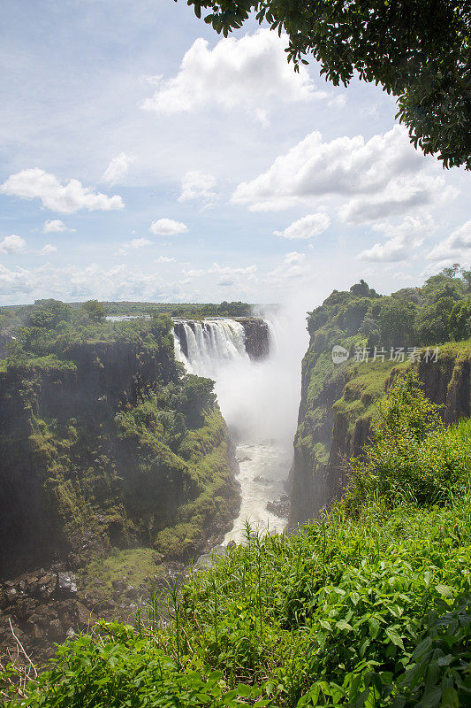
[[[401,126],[367,142],[362,135],[323,142],[315,132],[280,155],[265,173],[241,182],[232,203],[246,204],[253,211],[275,211],[328,195],[370,199],[386,192],[399,177],[410,180],[425,164]]]

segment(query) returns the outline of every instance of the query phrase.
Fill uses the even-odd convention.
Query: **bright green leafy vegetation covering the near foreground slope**
[[[409,376],[375,433],[329,514],[291,536],[247,527],[245,545],[172,592],[169,627],[150,612],[137,630],[114,623],[78,637],[24,704],[468,705],[470,421],[442,427]],[[421,450],[437,435],[441,457],[430,460]],[[398,474],[398,447],[412,449],[414,474]]]

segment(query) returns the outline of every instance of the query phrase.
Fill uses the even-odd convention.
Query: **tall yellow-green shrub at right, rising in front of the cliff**
[[[471,473],[469,421],[445,427],[414,373],[398,378],[377,410],[372,441],[350,463],[347,509],[375,496],[389,504],[444,504],[463,492]]]

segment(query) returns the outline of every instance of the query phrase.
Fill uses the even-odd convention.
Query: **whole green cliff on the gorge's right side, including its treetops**
[[[376,417],[376,401],[400,371],[418,370],[428,396],[444,404],[447,422],[470,414],[470,303],[470,272],[452,266],[422,288],[391,296],[380,296],[361,281],[347,292],[334,290],[309,313],[292,469],[292,526],[341,495],[346,461],[360,454]],[[332,361],[335,345],[348,353],[342,364]]]

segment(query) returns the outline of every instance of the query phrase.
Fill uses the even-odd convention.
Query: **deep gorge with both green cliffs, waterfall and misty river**
[[[83,324],[60,304],[66,325],[27,327],[0,365],[0,644],[11,622],[43,660],[90,620],[129,620],[201,554],[243,543],[247,520],[270,534],[318,518],[407,371],[446,425],[469,418],[471,343],[422,356],[421,313],[442,306],[440,288],[467,302],[440,278],[389,297],[334,291],[308,333],[302,311],[279,308]],[[382,337],[383,359],[361,358]]]

